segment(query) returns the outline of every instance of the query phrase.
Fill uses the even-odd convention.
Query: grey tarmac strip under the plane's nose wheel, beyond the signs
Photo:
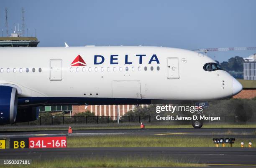
[[[256,128],[150,128],[150,129],[90,129],[73,130],[72,136],[86,135],[236,135],[256,138]],[[0,138],[28,137],[28,136],[59,136],[67,135],[67,130],[41,130],[41,131],[0,131]]]

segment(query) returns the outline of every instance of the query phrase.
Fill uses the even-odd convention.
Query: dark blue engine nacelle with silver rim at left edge
[[[0,124],[16,122],[18,108],[17,89],[10,86],[0,86]]]

